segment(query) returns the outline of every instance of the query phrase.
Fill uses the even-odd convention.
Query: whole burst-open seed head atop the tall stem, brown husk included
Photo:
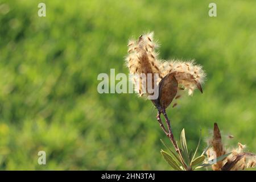
[[[138,40],[130,39],[128,42],[126,66],[129,68],[134,85],[138,85],[135,86],[135,91],[139,96],[150,95],[147,85],[148,74],[152,75],[151,88],[154,89],[154,83],[159,88],[158,100],[152,101],[154,105],[158,105],[157,107],[165,109],[172,100],[177,100],[183,95],[183,90],[187,90],[191,95],[198,88],[203,93],[201,84],[206,75],[202,67],[195,65],[193,61],[158,59],[158,53],[155,51],[158,44],[153,36],[154,33],[150,32],[139,36]],[[155,73],[158,74],[157,78],[154,77]],[[142,78],[143,74],[146,75],[146,80]],[[175,102],[173,107],[176,105]]]

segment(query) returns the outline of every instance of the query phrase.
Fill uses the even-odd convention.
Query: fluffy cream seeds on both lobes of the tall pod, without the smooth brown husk
[[[138,40],[131,39],[129,41],[126,65],[130,73],[158,73],[159,78],[156,80],[156,84],[159,84],[160,80],[168,73],[172,73],[179,84],[176,99],[181,97],[179,90],[185,89],[189,95],[196,88],[203,92],[201,84],[204,82],[205,73],[201,66],[195,65],[193,61],[159,60],[158,53],[155,51],[158,45],[154,42],[153,35],[154,33],[150,32],[149,34],[141,35]],[[152,78],[152,81],[154,81],[154,78]],[[135,91],[139,93],[139,96],[142,96],[142,89],[147,88],[146,82],[142,82],[141,77],[133,77],[133,82],[134,84],[139,84]]]

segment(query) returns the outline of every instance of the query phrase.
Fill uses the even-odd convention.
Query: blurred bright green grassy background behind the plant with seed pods
[[[46,17],[38,3],[46,3]],[[209,17],[209,3],[217,17]],[[256,152],[256,1],[0,1],[0,169],[170,169],[150,101],[99,94],[128,73],[127,40],[154,31],[162,59],[196,59],[204,94],[168,109],[189,147],[217,122],[227,147]],[[234,139],[226,139],[229,134]],[[168,142],[171,146],[171,143]],[[200,147],[200,151],[206,142]],[[47,164],[38,164],[44,150]]]

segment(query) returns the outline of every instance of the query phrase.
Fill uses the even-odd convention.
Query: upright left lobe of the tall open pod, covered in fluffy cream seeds
[[[126,65],[129,68],[131,79],[135,85],[135,91],[139,96],[143,96],[147,93],[147,74],[152,74],[152,89],[154,89],[154,73],[159,74],[156,84],[163,78],[162,72],[159,69],[159,61],[157,59],[158,53],[155,52],[155,48],[158,45],[154,42],[153,32],[141,35],[136,41],[134,39],[129,40],[128,43],[128,55],[126,57]],[[136,74],[144,73],[146,80],[143,80],[141,76]],[[144,82],[143,82],[144,81]],[[146,93],[145,93],[146,92]]]

